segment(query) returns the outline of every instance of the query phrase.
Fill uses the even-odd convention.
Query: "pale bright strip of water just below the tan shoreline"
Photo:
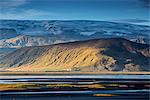
[[[19,76],[0,76],[4,78],[111,78],[111,79],[149,79],[150,75],[19,75]]]

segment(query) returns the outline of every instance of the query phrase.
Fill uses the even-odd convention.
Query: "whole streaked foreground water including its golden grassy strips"
[[[148,100],[149,88],[149,75],[22,75],[0,77],[0,91],[3,99],[6,99],[6,96],[16,94],[22,96],[30,94],[31,97],[35,95],[50,97],[59,95],[71,97],[111,96],[117,98],[137,98],[140,94],[140,98]]]

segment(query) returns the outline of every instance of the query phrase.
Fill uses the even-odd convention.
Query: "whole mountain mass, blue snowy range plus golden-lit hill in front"
[[[149,71],[149,33],[107,21],[0,20],[0,69]]]

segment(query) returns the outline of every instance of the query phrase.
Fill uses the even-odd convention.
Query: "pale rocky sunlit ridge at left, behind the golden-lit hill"
[[[50,45],[56,43],[63,43],[73,40],[67,40],[63,38],[59,38],[57,36],[30,36],[30,35],[19,35],[10,39],[0,40],[0,48],[20,48],[27,46],[42,46],[42,45]]]

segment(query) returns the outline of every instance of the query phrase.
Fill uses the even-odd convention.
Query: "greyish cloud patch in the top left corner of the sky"
[[[21,6],[27,3],[27,0],[0,0],[0,8],[11,8]]]

